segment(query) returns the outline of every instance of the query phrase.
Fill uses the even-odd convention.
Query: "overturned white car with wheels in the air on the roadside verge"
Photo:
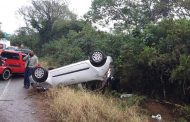
[[[47,71],[43,67],[36,67],[30,77],[33,86],[47,89],[42,84],[50,86],[73,85],[90,81],[105,81],[110,74],[112,58],[100,51],[94,51],[89,60],[77,62]]]

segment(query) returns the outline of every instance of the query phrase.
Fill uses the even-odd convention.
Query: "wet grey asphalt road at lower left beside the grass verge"
[[[0,81],[0,122],[38,122],[29,94],[22,77]]]

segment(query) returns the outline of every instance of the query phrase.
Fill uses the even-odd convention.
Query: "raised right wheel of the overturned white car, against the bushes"
[[[90,63],[93,66],[100,67],[103,66],[106,62],[106,55],[101,51],[94,51],[90,55]]]

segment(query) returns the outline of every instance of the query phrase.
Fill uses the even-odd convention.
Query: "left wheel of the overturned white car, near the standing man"
[[[48,78],[48,71],[43,67],[35,67],[32,72],[32,78],[38,83],[45,82]]]

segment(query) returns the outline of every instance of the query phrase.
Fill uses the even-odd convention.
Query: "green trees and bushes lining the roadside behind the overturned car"
[[[119,93],[188,106],[189,6],[189,0],[93,0],[84,18],[77,19],[66,2],[33,0],[19,10],[28,26],[18,29],[11,43],[34,50],[51,67],[87,59],[93,50],[101,50],[113,57]],[[114,26],[103,32],[94,23]],[[189,116],[188,109],[185,112]]]

